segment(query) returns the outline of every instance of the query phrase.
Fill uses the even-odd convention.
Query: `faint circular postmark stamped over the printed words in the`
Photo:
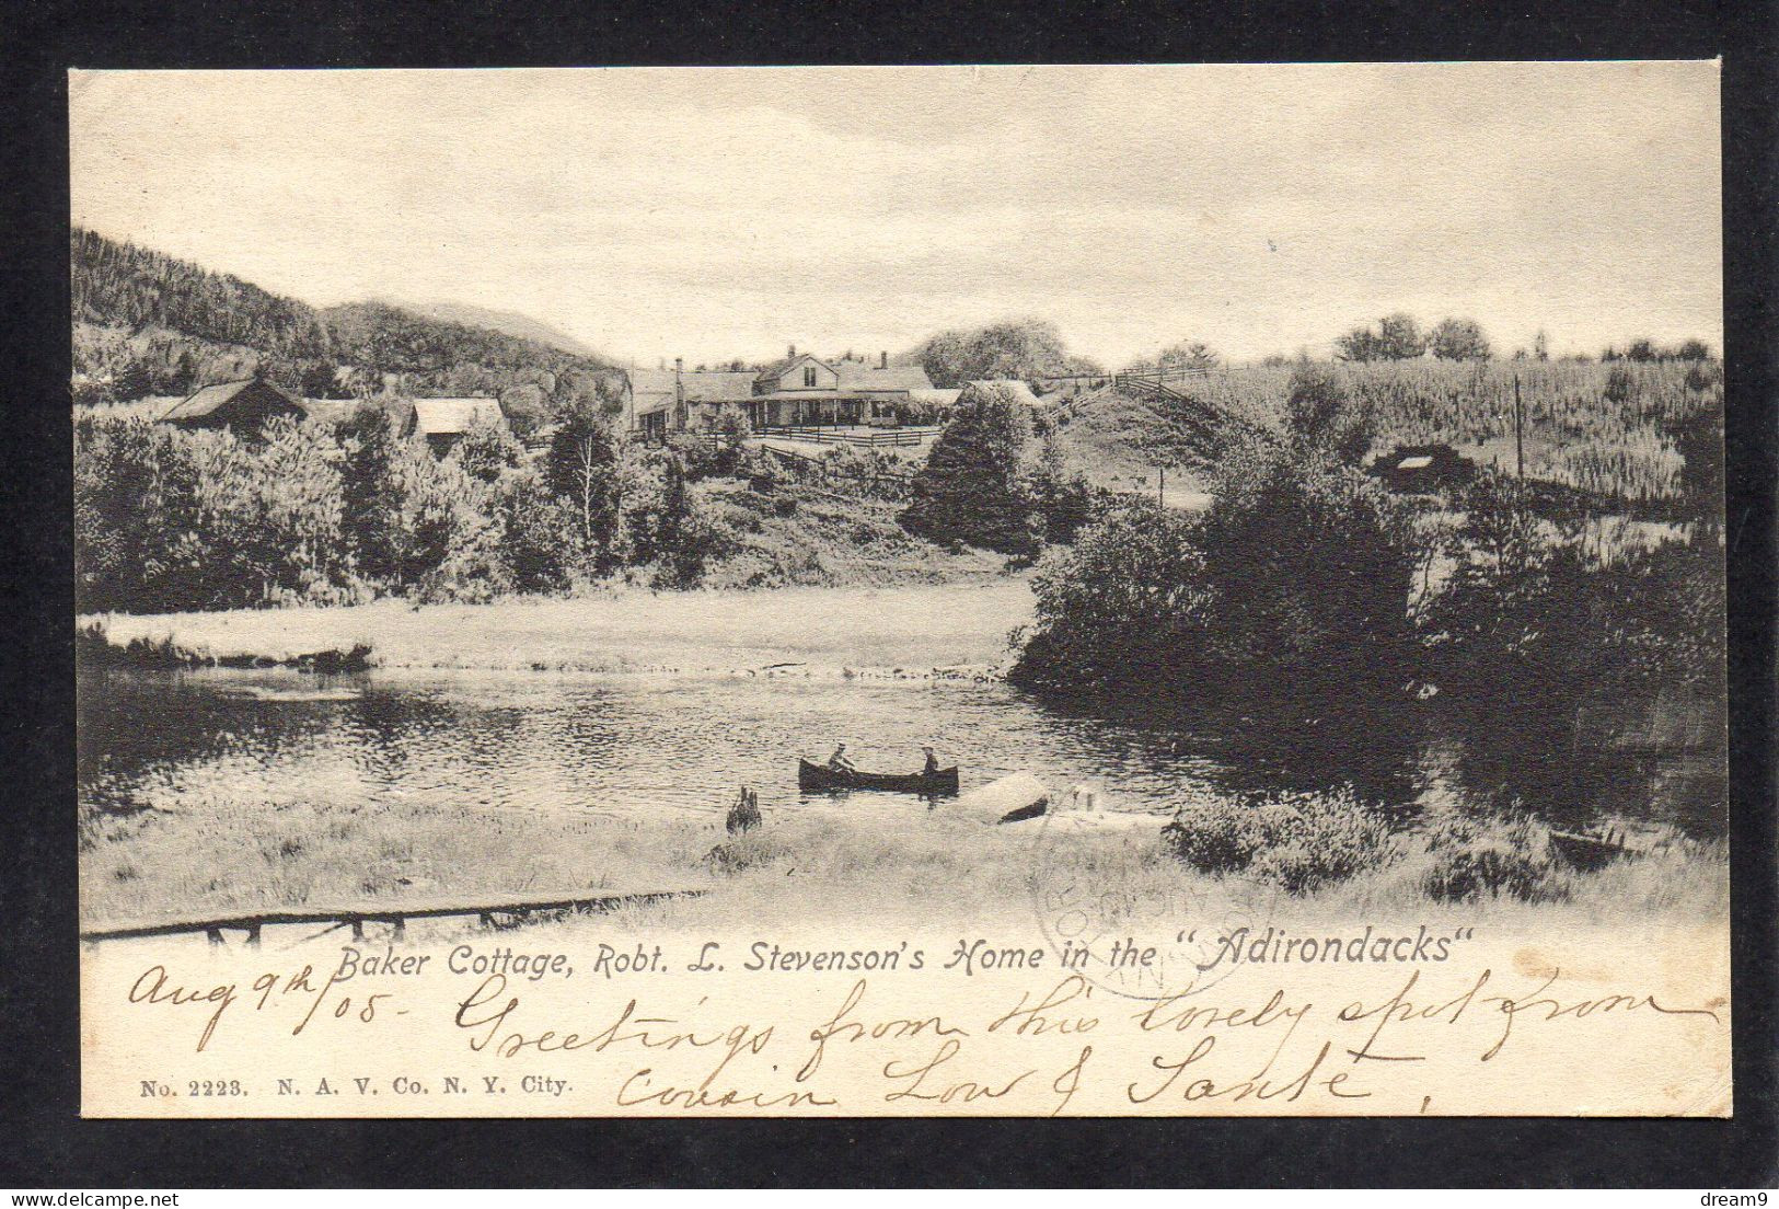
[[[1165,824],[1153,819],[1156,830]],[[1119,819],[1123,823],[1123,819]],[[1135,824],[1144,826],[1144,824]],[[1272,921],[1277,892],[1238,880],[1156,876],[1117,858],[1103,814],[1046,810],[1035,819],[1032,906],[1062,969],[1126,999],[1176,999],[1215,986],[1236,962],[1235,937]],[[1114,858],[1107,858],[1108,851]]]

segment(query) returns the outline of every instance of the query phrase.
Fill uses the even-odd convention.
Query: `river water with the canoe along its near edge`
[[[1320,734],[1277,719],[1192,726],[1071,712],[1005,684],[646,677],[560,671],[96,671],[80,680],[82,805],[402,801],[527,810],[726,807],[740,783],[795,808],[797,757],[845,741],[859,767],[962,785],[1032,771],[1117,810],[1185,794],[1352,783],[1413,817],[1519,799],[1551,823],[1601,817],[1722,833],[1711,759],[1582,751],[1521,735],[1478,750],[1425,709]],[[1717,757],[1720,759],[1720,757]]]

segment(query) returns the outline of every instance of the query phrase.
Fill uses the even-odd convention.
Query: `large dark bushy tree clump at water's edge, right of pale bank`
[[[1192,702],[1320,705],[1391,693],[1413,653],[1411,534],[1364,475],[1283,443],[1245,443],[1211,507],[1126,504],[1034,582],[1037,625],[1014,678]]]

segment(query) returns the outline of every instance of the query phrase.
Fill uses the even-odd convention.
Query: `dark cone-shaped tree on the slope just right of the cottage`
[[[962,541],[1002,554],[1037,552],[1026,483],[1032,418],[1003,386],[971,385],[957,415],[914,475],[902,523],[934,541]]]

